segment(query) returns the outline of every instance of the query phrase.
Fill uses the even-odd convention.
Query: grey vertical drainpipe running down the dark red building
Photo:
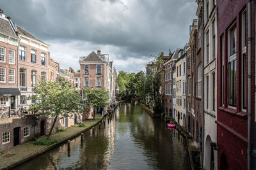
[[[251,170],[251,118],[252,118],[252,0],[247,0],[248,12],[248,170]]]

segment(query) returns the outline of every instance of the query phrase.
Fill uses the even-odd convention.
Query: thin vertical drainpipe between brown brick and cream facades
[[[202,124],[202,162],[201,162],[201,167],[204,167],[204,124],[205,124],[205,120],[204,120],[204,0],[202,0],[202,39],[203,39],[203,43],[202,43],[202,113],[203,113],[203,124]]]

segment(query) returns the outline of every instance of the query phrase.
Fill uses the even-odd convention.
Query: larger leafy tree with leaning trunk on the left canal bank
[[[30,110],[54,118],[47,139],[50,138],[58,117],[71,117],[73,113],[81,113],[83,110],[79,92],[63,78],[58,82],[40,81],[34,92],[36,96],[33,97],[37,102],[30,106]]]

